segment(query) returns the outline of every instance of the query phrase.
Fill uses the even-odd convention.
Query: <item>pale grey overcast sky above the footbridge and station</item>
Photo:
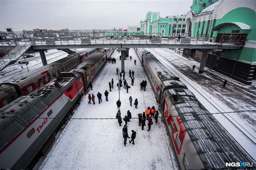
[[[148,11],[185,15],[191,5],[192,0],[0,0],[0,29],[126,28],[139,26]]]

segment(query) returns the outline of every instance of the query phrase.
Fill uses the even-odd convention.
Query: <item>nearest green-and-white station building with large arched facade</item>
[[[186,33],[192,37],[215,38],[217,42],[243,45],[238,50],[203,51],[184,49],[183,56],[200,62],[207,57],[206,66],[244,84],[256,79],[256,14],[255,1],[193,0],[186,14]]]

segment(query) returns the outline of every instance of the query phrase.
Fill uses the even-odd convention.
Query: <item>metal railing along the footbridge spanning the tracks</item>
[[[105,36],[107,31],[113,30],[46,30],[46,31],[18,31],[0,32],[4,43],[30,42],[35,45],[80,45],[80,44],[219,44],[219,45],[244,45],[244,41],[235,37],[212,38],[209,35],[191,37],[186,33],[170,33],[169,36],[162,36],[163,33],[143,33],[134,36]],[[135,34],[135,31],[134,31]],[[157,35],[157,36],[156,36]],[[178,38],[178,35],[181,38]],[[0,44],[1,45],[1,44]]]

